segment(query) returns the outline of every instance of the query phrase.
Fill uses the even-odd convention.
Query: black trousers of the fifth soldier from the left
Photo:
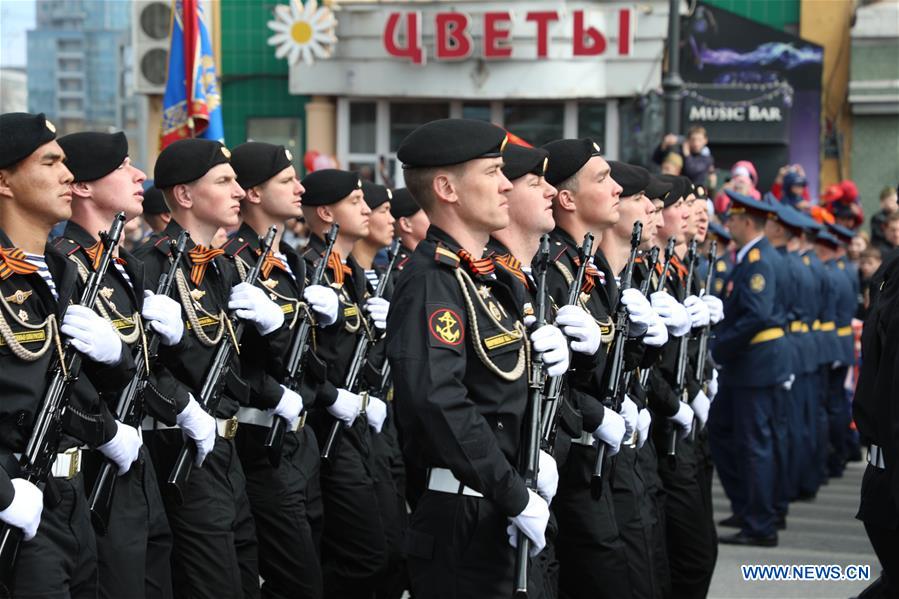
[[[332,463],[322,466],[322,575],[329,599],[370,599],[387,572],[388,533],[374,462],[368,423],[359,418],[343,430]]]

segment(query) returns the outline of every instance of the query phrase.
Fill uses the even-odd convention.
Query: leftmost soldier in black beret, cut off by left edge
[[[43,114],[8,113],[0,116],[0,131],[0,520],[22,529],[25,539],[14,596],[95,597],[97,547],[81,446],[109,442],[115,422],[96,400],[84,405],[73,395],[76,409],[63,415],[66,434],[43,493],[21,478],[19,456],[41,407],[50,363],[61,351],[60,334],[84,355],[83,374],[98,391],[124,387],[134,362],[108,322],[90,308],[70,305],[79,299],[77,269],[47,244],[53,225],[72,215],[72,174],[55,128]]]

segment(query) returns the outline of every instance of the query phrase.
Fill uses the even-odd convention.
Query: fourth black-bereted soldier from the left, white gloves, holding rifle
[[[241,202],[243,224],[223,249],[242,276],[264,260],[257,285],[285,315],[278,335],[263,337],[247,331],[242,340],[241,373],[252,389],[249,405],[237,412],[240,427],[235,443],[247,476],[247,495],[259,539],[259,573],[263,597],[322,597],[320,543],[322,528],[318,442],[300,416],[312,404],[320,381],[306,358],[298,394],[281,383],[285,359],[298,324],[314,318],[317,327],[337,322],[337,294],[322,285],[306,285],[306,263],[282,235],[285,221],[302,215],[303,186],[291,155],[283,146],[248,142],[234,148],[231,165],[246,190]],[[259,237],[276,226],[273,250],[262,257]],[[310,312],[304,314],[306,303]],[[311,314],[311,316],[310,316]],[[275,416],[290,423],[280,465],[274,468],[264,448]]]

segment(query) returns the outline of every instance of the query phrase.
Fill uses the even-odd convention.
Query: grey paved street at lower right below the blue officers
[[[712,579],[710,599],[831,599],[854,596],[868,582],[747,582],[742,564],[849,564],[870,565],[871,579],[879,575],[877,558],[865,530],[857,521],[859,488],[865,463],[850,464],[841,479],[822,487],[814,503],[790,506],[787,530],[773,549],[719,546],[718,565]],[[715,520],[730,514],[730,504],[721,486],[714,489]],[[733,529],[722,529],[723,532]],[[721,531],[719,531],[721,532]]]

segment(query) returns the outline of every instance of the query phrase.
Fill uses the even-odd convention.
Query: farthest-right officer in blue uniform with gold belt
[[[830,334],[833,343],[833,354],[830,368],[827,370],[824,387],[827,420],[830,431],[830,447],[827,453],[827,475],[840,477],[846,465],[847,440],[849,436],[849,398],[844,388],[849,365],[854,361],[855,348],[852,337],[853,306],[856,295],[852,283],[844,274],[845,265],[840,268],[838,261],[840,241],[826,231],[818,233],[815,249],[818,257],[824,262],[830,280],[833,310],[828,319],[821,325],[822,330]]]

